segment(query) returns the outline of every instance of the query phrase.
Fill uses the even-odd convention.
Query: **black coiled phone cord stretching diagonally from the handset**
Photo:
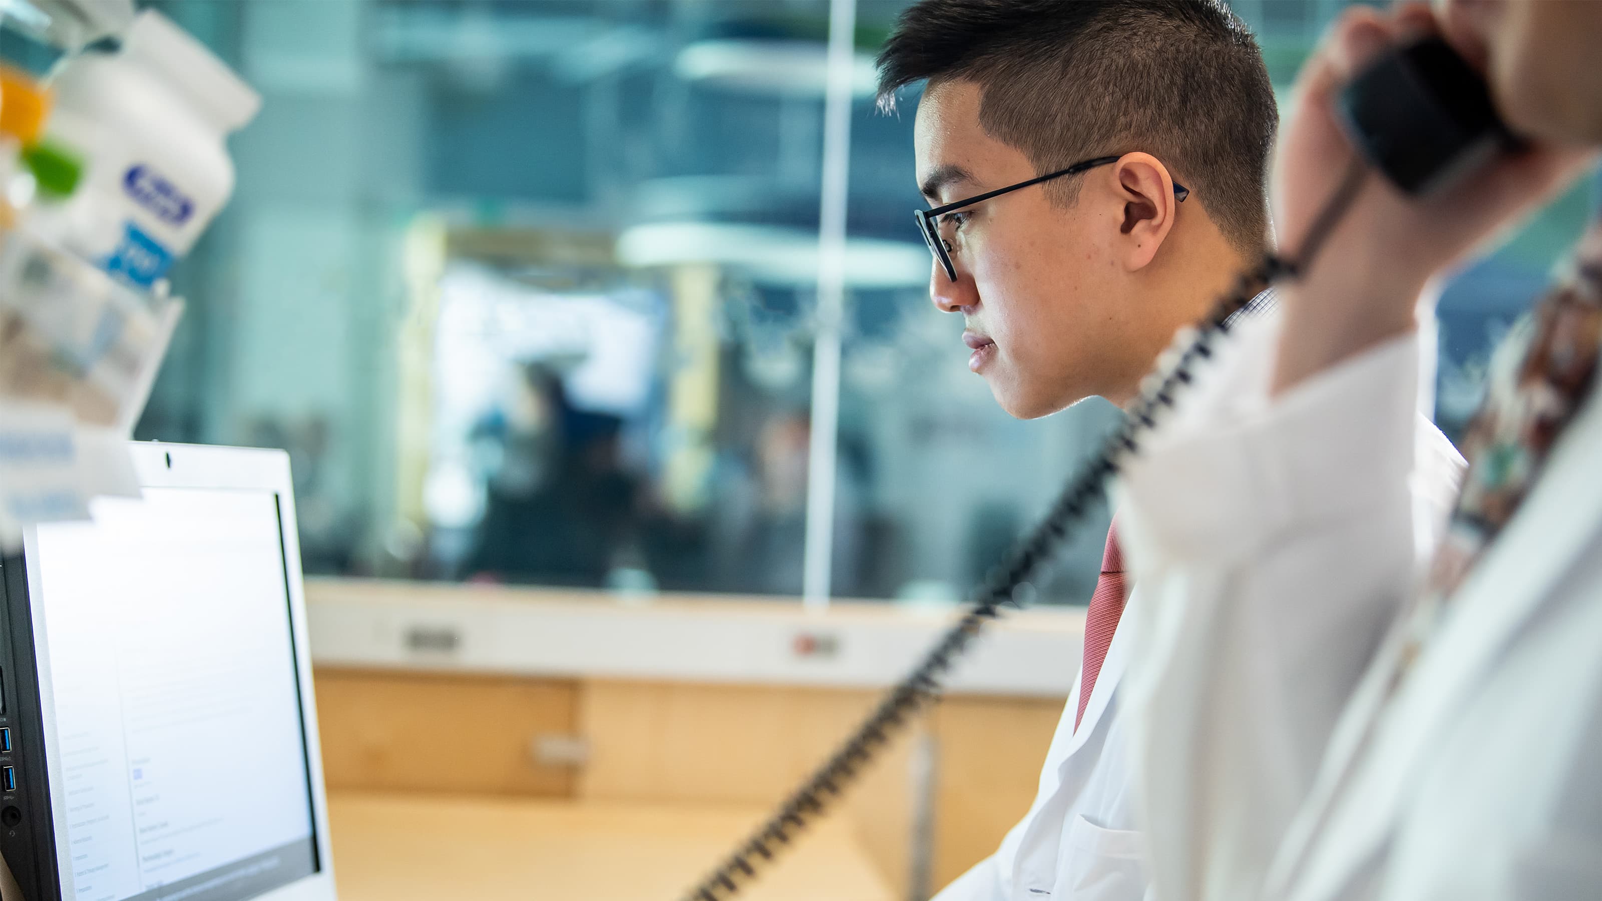
[[[1261,263],[1242,273],[1200,327],[1182,329],[1176,335],[1174,349],[1165,353],[1152,375],[1142,382],[1141,396],[1131,406],[1123,425],[1107,438],[1096,460],[1083,467],[1069,483],[1040,526],[985,577],[974,595],[974,606],[924,656],[912,675],[884,696],[839,750],[819,766],[779,806],[772,818],[742,842],[727,861],[692,888],[684,901],[723,901],[739,895],[745,885],[758,877],[761,869],[772,864],[795,842],[796,832],[841,798],[846,786],[889,742],[894,731],[907,726],[918,710],[939,697],[945,675],[956,664],[956,659],[979,636],[985,624],[1001,614],[1003,604],[1016,603],[1017,587],[1051,558],[1069,531],[1093,510],[1094,502],[1107,486],[1107,479],[1118,473],[1123,460],[1139,452],[1142,433],[1157,425],[1157,415],[1161,410],[1174,406],[1176,393],[1192,382],[1192,369],[1197,362],[1213,356],[1213,343],[1219,335],[1229,333],[1230,317],[1266,287],[1294,279],[1299,273],[1307,271],[1330,232],[1334,231],[1336,223],[1357,197],[1367,172],[1362,159],[1354,157],[1334,194],[1307,229],[1301,252],[1293,260],[1274,253],[1264,255]]]

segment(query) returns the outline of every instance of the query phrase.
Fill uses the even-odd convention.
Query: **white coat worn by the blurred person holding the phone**
[[[1275,345],[1123,484],[1158,896],[1602,898],[1602,406],[1381,704],[1458,468],[1411,409],[1432,367],[1399,338],[1270,402]]]

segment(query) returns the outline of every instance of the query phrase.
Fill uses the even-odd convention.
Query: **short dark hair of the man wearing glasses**
[[[913,82],[971,80],[980,125],[1036,173],[1145,151],[1230,244],[1267,240],[1278,107],[1258,42],[1222,0],[918,0],[878,66],[886,112]],[[1078,184],[1056,197],[1072,204]]]

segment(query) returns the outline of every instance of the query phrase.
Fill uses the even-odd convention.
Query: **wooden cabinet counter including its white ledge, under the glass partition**
[[[960,614],[351,579],[306,593],[330,790],[727,805],[753,821]],[[1028,810],[1083,625],[1083,609],[1003,617],[847,795],[841,840],[897,898],[968,871]],[[417,765],[418,736],[449,736],[445,766]]]

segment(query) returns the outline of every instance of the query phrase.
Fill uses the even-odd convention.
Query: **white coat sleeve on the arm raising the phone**
[[[1419,337],[1270,398],[1278,317],[1240,332],[1120,483],[1161,901],[1256,898],[1461,467],[1418,412]]]

